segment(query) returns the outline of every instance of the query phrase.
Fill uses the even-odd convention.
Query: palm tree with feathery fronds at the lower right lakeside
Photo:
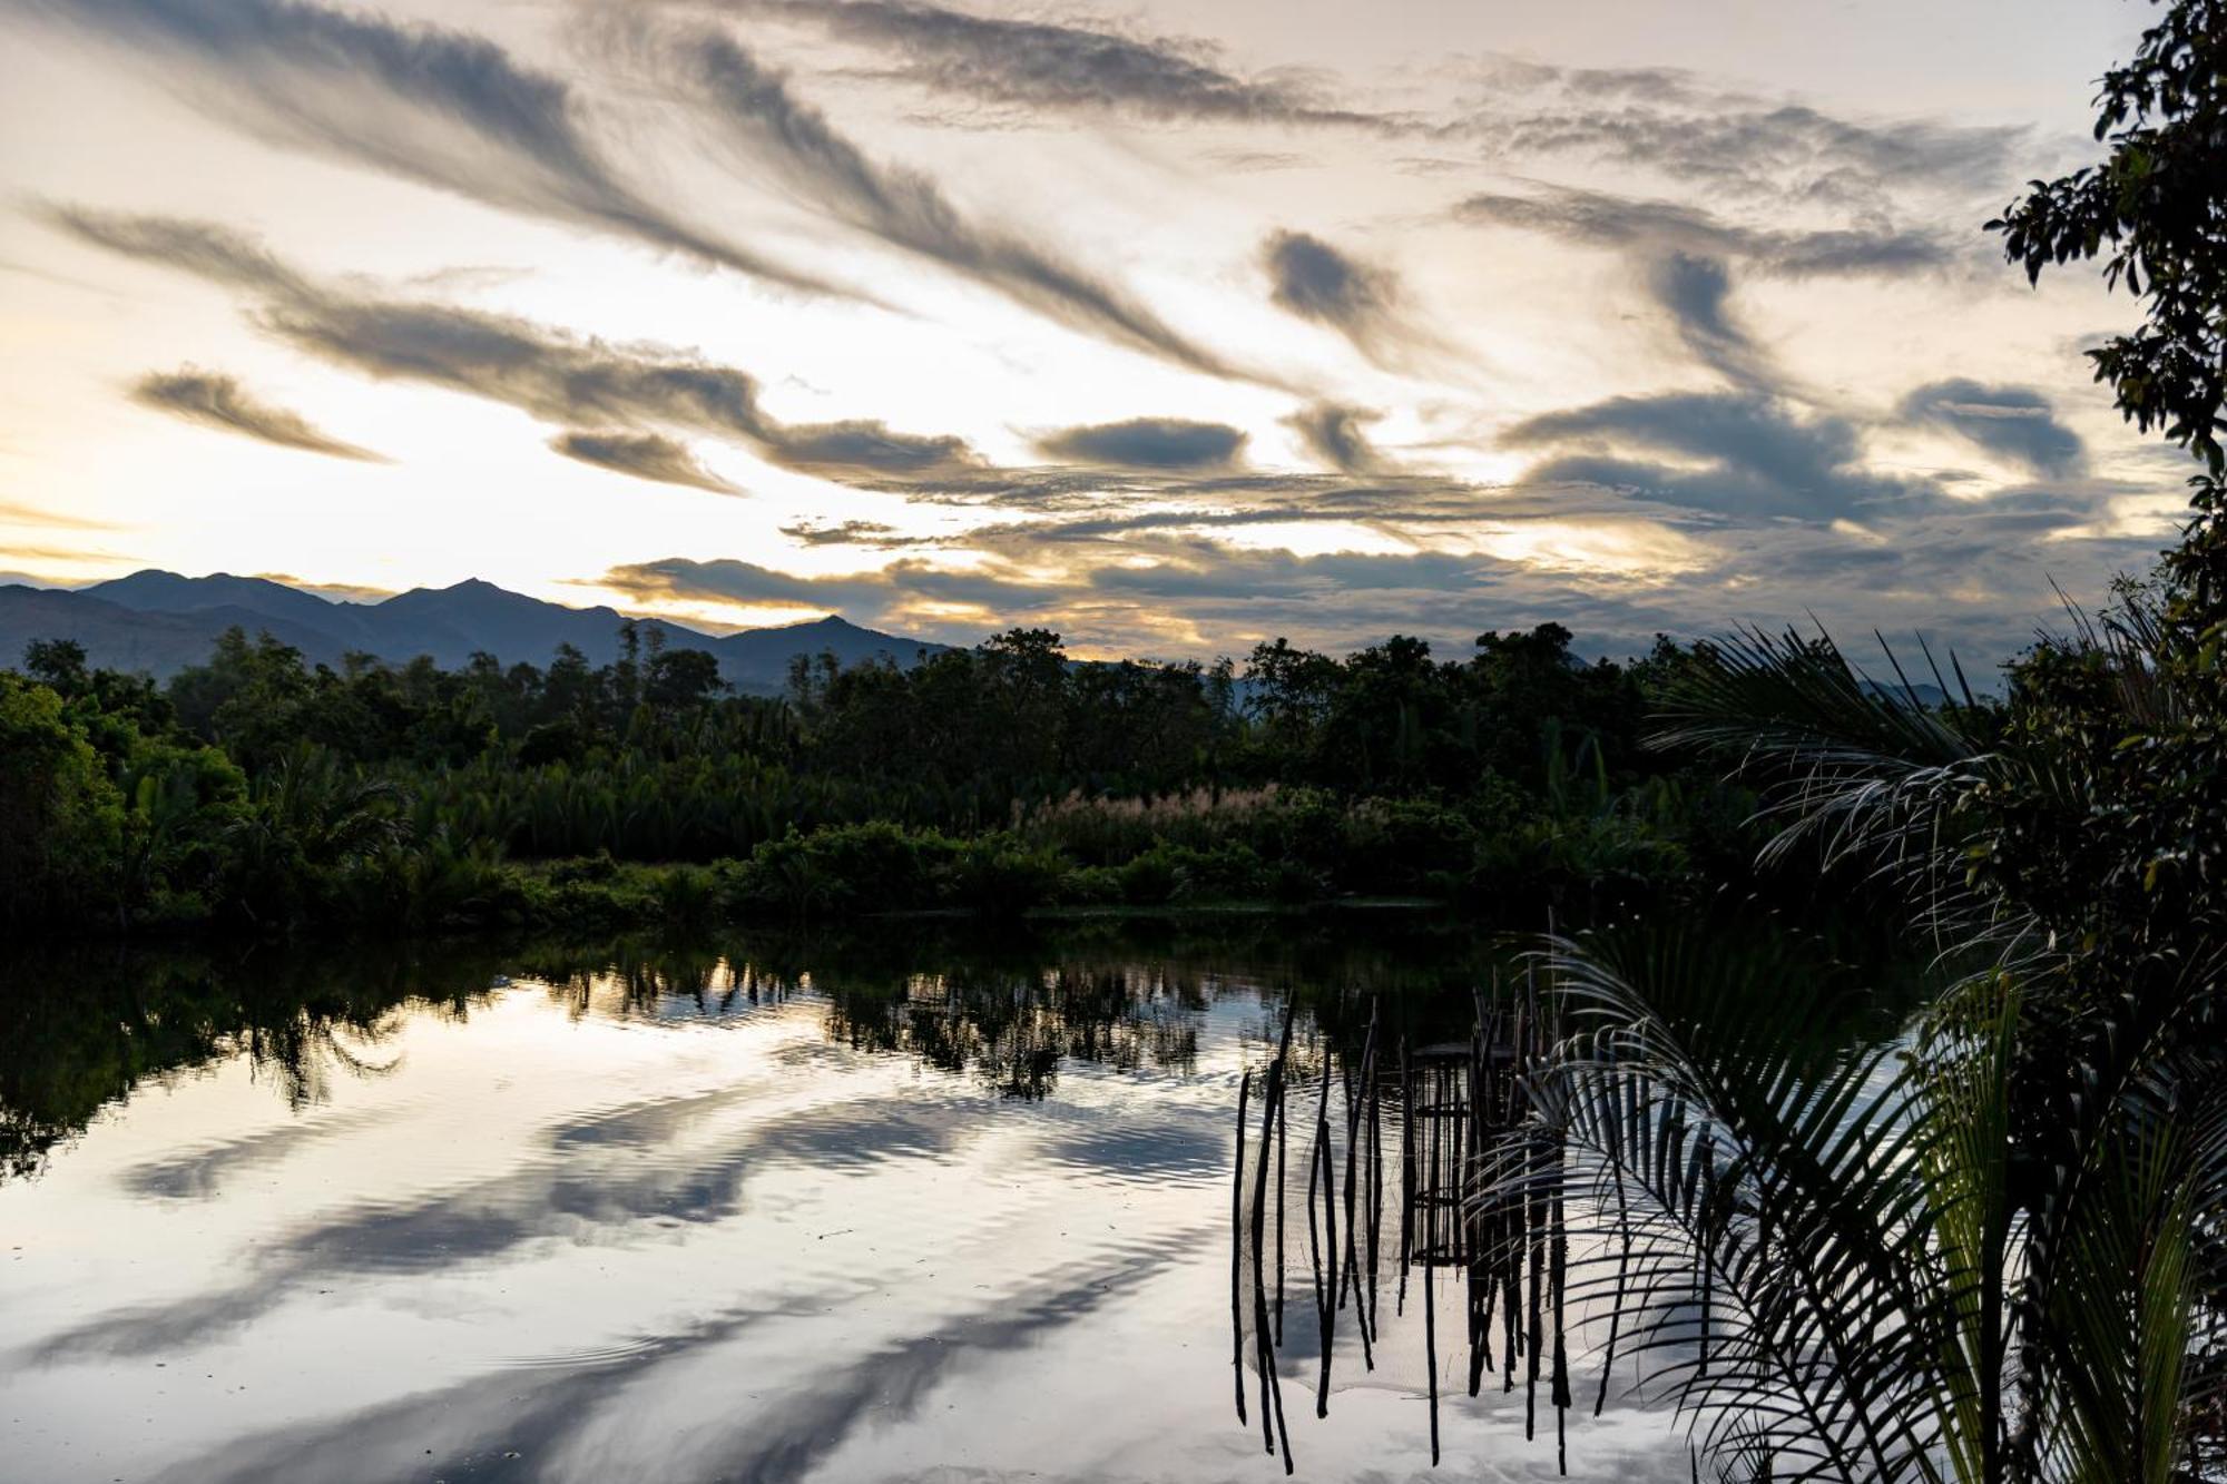
[[[1837,976],[1728,956],[1706,920],[1548,949],[1563,1036],[1481,1199],[1588,1212],[1570,1297],[1726,1477],[2196,1477],[2227,1337],[2227,943],[2160,916],[2140,853],[2051,896],[2056,853],[2125,844],[2118,738],[2191,715],[2151,615],[2133,595],[2029,662],[2096,682],[2105,724],[2056,684],[1926,706],[1799,635],[1735,635],[1670,691],[1661,740],[1762,784],[1768,853],[1868,871],[1958,969],[1848,1038],[1819,1034],[1862,1003]]]

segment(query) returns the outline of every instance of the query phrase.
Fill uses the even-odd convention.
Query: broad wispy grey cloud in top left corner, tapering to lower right
[[[835,285],[717,238],[621,178],[557,76],[445,27],[301,0],[27,0],[136,47],[203,111],[276,145],[811,292]]]

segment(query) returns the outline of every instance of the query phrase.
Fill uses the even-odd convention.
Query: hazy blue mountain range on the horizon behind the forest
[[[548,664],[559,644],[608,664],[619,655],[617,608],[568,608],[492,582],[412,588],[381,602],[336,602],[269,577],[180,577],[147,568],[87,588],[0,586],[0,666],[16,664],[33,640],[76,640],[87,662],[145,671],[158,680],[200,664],[227,628],[267,633],[312,664],[339,666],[356,651],[401,664],[432,655],[459,666],[485,651],[503,664]],[[842,664],[889,657],[911,664],[944,644],[860,628],[840,617],[782,628],[710,635],[666,619],[641,619],[644,637],[661,631],[668,648],[702,648],[739,691],[777,693],[795,655],[833,653]]]

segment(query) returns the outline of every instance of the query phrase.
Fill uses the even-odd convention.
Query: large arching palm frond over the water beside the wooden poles
[[[1929,1221],[1924,1083],[1868,998],[1791,934],[1728,956],[1693,920],[1552,965],[1570,1034],[1523,1136],[1561,1159],[1490,1154],[1485,1199],[1566,1197],[1572,1301],[1617,1319],[1719,1468],[1935,1477],[1971,1283]]]

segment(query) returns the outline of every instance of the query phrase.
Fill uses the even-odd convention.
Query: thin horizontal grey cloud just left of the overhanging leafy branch
[[[1677,201],[1534,185],[1528,196],[1479,192],[1454,207],[1465,223],[1546,232],[1646,256],[1686,254],[1746,263],[1782,279],[1897,276],[1958,261],[1937,232],[1893,227],[1744,227]],[[1966,254],[1969,256],[1969,254]]]

